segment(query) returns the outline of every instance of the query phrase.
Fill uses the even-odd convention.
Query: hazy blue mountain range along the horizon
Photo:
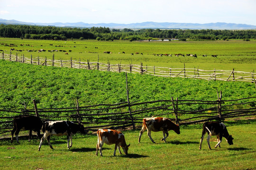
[[[116,24],[116,23],[99,23],[99,24],[88,24],[83,22],[77,23],[27,23],[17,20],[6,20],[0,19],[0,24],[12,24],[12,25],[31,25],[31,26],[67,26],[67,27],[109,27],[109,28],[130,28],[130,29],[141,29],[141,28],[160,28],[160,29],[256,29],[256,26],[247,24],[234,24],[234,23],[208,23],[208,24],[193,24],[193,23],[169,23],[169,22],[143,22],[143,23],[132,23],[132,24]]]

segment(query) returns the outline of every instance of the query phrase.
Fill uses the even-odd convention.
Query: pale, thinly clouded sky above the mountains
[[[256,26],[256,0],[0,0],[0,18],[33,23],[236,23]]]

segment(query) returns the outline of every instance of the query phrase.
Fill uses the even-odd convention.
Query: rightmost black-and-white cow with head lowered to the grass
[[[199,150],[201,150],[202,140],[203,140],[203,137],[206,134],[206,132],[208,133],[207,143],[208,143],[209,149],[211,149],[210,148],[210,136],[217,136],[218,144],[215,145],[215,148],[217,148],[218,146],[220,147],[219,144],[222,141],[222,137],[226,138],[229,145],[233,144],[234,138],[231,135],[229,135],[226,125],[224,125],[221,122],[215,122],[215,121],[205,122],[203,124],[203,130],[202,130],[202,136],[201,136]]]

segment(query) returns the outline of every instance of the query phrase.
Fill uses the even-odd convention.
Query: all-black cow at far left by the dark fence
[[[40,130],[42,128],[42,120],[36,116],[19,115],[13,118],[13,129],[11,131],[11,143],[13,142],[13,134],[15,133],[18,142],[18,133],[20,130],[29,130],[28,141],[32,136],[32,130],[37,132],[37,138],[40,139]],[[18,142],[19,143],[19,142]]]

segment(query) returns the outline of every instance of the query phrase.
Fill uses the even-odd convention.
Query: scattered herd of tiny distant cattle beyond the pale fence
[[[75,43],[75,42],[74,42]],[[4,44],[4,43],[1,43],[1,45],[4,45],[4,46],[9,46],[9,47],[18,47],[18,45],[15,45],[15,44]],[[28,47],[34,47],[34,45],[30,45],[30,44],[19,44],[20,46],[28,46]],[[53,44],[49,44],[50,46],[54,46]],[[40,45],[41,47],[43,45]],[[63,46],[63,45],[55,45],[55,47],[64,47],[64,48],[72,48],[72,46],[69,46],[69,47],[66,47],[66,46]],[[74,48],[76,48],[76,46],[73,46]],[[87,49],[87,47],[84,47]],[[98,49],[98,47],[94,47],[95,49]],[[0,50],[0,51],[3,51],[3,50]],[[11,48],[10,51],[18,51],[18,52],[21,52],[21,51],[25,51],[25,50],[17,50],[15,48]],[[53,49],[53,50],[44,50],[44,49],[39,49],[39,50],[26,50],[27,52],[64,52],[65,55],[68,55],[68,52],[72,52],[72,50],[56,50],[56,49]],[[7,51],[8,52],[8,51]],[[86,51],[83,51],[83,52],[86,52]],[[88,51],[89,53],[98,53],[98,52],[91,52],[91,51]],[[82,53],[82,52],[79,52],[79,53]],[[103,54],[112,54],[111,51],[103,51]],[[125,51],[122,51],[122,52],[119,52],[119,54],[125,54]],[[135,52],[135,53],[130,53],[131,55],[134,55],[134,54],[141,54],[143,55],[142,52]],[[176,54],[170,54],[170,53],[161,53],[161,54],[151,54],[151,55],[154,55],[154,56],[169,56],[169,57],[173,57],[173,56],[176,56],[176,57],[185,57],[185,56],[188,56],[188,57],[194,57],[194,58],[197,58],[197,54],[181,54],[181,53],[176,53]],[[218,55],[210,55],[211,57],[215,57],[217,58]],[[202,57],[207,57],[206,54],[203,54]]]

